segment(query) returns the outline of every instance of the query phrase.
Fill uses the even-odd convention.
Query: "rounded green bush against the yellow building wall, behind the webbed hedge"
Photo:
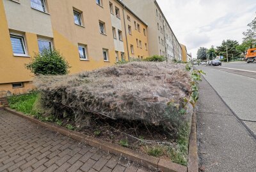
[[[35,54],[26,68],[35,75],[67,75],[70,66],[60,52],[45,48],[41,53]]]

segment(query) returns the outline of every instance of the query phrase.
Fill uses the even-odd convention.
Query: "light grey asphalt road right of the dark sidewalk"
[[[207,82],[255,137],[256,64],[231,62],[223,63],[221,68],[212,66],[196,66],[196,68],[206,73],[204,77]]]

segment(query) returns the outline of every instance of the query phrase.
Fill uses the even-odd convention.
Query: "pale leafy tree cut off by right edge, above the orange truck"
[[[249,48],[256,47],[256,17],[248,24],[249,29],[243,32],[243,41]]]

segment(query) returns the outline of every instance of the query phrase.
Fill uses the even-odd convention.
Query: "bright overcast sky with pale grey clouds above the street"
[[[157,0],[179,42],[193,58],[199,47],[221,45],[223,39],[243,40],[256,17],[256,0]]]

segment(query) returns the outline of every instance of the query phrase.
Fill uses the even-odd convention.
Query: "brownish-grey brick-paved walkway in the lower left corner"
[[[0,171],[149,171],[0,110]]]

